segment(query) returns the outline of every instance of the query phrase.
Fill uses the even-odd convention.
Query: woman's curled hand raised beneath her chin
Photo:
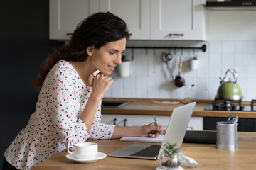
[[[94,96],[98,100],[102,100],[113,83],[114,80],[112,77],[103,76],[102,73],[99,72],[96,77],[93,78],[92,94],[90,96]]]

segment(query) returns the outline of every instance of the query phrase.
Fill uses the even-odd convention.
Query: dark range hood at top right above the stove
[[[206,8],[209,9],[246,9],[255,10],[256,0],[206,0]]]

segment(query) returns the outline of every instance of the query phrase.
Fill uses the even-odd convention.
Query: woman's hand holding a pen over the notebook
[[[160,135],[160,132],[163,133],[163,126],[156,125],[156,123],[150,123],[149,125],[142,126],[141,137],[157,137]]]

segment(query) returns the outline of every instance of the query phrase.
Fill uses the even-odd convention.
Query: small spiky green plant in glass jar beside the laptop
[[[166,142],[162,149],[164,149],[164,154],[161,155],[160,159],[162,169],[181,169],[181,148],[177,147],[176,143]]]

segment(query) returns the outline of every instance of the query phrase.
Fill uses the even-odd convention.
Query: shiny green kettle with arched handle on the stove
[[[234,81],[227,80],[227,74],[230,72],[233,74]],[[240,86],[236,83],[238,80],[238,74],[235,72],[235,69],[228,69],[227,72],[225,72],[224,77],[220,77],[220,86],[218,88],[218,93],[215,97],[215,99],[223,99],[223,100],[240,100],[243,98],[242,96],[242,89]]]

